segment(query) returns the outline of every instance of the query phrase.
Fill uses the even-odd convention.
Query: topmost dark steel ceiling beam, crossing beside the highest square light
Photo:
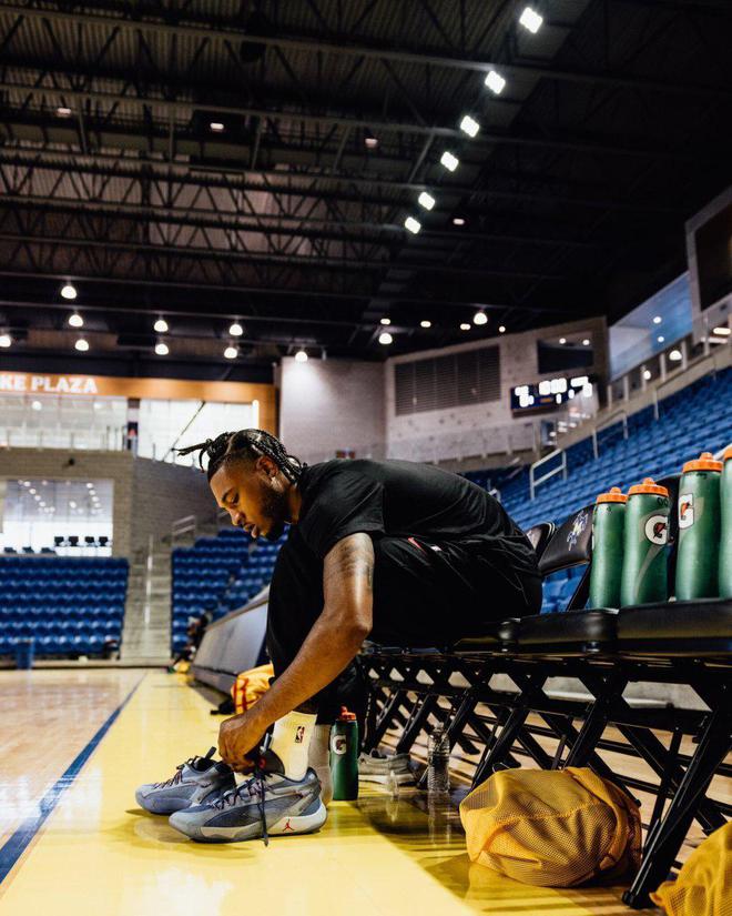
[[[364,39],[354,41],[352,36],[331,34],[322,32],[314,34],[285,34],[279,31],[275,36],[257,36],[244,29],[233,29],[225,22],[211,20],[195,21],[186,17],[185,22],[170,22],[162,19],[142,18],[141,13],[129,7],[115,9],[114,14],[81,13],[55,8],[39,9],[23,3],[0,2],[0,12],[21,16],[26,19],[40,19],[47,22],[64,22],[79,28],[82,26],[106,26],[110,29],[122,29],[134,32],[151,32],[166,37],[191,38],[197,40],[221,41],[230,44],[264,44],[266,47],[305,51],[309,53],[332,53],[337,56],[387,60],[399,63],[424,67],[468,70],[487,73],[491,69],[500,70],[504,74],[533,77],[561,82],[596,83],[608,87],[623,87],[631,90],[663,92],[683,95],[706,95],[709,98],[730,99],[732,90],[715,85],[694,85],[693,83],[671,83],[660,80],[649,80],[629,73],[596,73],[591,71],[561,70],[541,67],[531,63],[505,63],[480,58],[446,54],[443,51],[425,51],[423,48],[384,48]]]

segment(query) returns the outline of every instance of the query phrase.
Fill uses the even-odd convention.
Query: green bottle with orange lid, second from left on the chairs
[[[669,491],[645,477],[628,491],[621,607],[668,600],[668,543]]]

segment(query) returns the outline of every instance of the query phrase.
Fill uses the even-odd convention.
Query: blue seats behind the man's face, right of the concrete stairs
[[[241,529],[222,529],[193,547],[173,551],[172,647],[186,643],[191,617],[217,621],[245,605],[272,578],[281,543],[254,542]]]

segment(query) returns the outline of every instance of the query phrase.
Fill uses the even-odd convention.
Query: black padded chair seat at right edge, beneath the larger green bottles
[[[623,607],[618,615],[618,650],[643,655],[730,654],[732,664],[732,600]]]

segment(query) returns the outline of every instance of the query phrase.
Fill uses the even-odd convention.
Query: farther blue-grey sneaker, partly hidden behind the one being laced
[[[191,805],[213,802],[236,788],[234,771],[223,761],[213,761],[216,748],[205,757],[191,757],[179,764],[175,774],[163,783],[145,783],[135,792],[140,807],[152,814],[173,814]]]

